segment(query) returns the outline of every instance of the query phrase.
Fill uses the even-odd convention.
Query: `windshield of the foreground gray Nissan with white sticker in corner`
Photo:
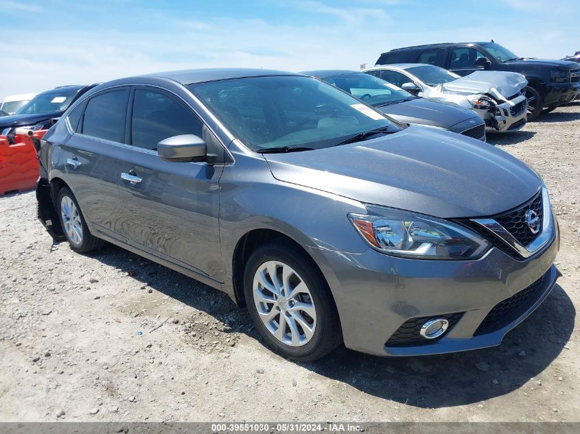
[[[361,132],[400,130],[375,109],[311,77],[248,77],[187,88],[257,152],[275,147],[320,149]]]

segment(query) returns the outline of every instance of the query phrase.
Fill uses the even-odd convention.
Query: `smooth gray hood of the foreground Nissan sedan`
[[[494,146],[420,125],[264,158],[277,180],[442,218],[502,213],[542,185],[532,169]]]

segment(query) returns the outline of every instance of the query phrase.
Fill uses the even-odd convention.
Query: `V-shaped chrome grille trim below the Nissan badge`
[[[544,219],[542,221],[542,232],[529,245],[522,245],[516,240],[511,233],[507,231],[498,221],[494,219],[472,219],[474,223],[482,226],[485,230],[491,232],[496,237],[504,241],[515,252],[518,252],[522,257],[529,258],[538,250],[544,247],[554,237],[554,217],[552,215],[552,206],[550,205],[550,197],[548,190],[542,186],[542,213]]]

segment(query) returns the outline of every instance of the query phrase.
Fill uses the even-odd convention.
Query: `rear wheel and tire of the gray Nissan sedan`
[[[75,196],[68,187],[62,187],[58,191],[56,205],[62,232],[65,233],[72,250],[77,253],[87,253],[102,248],[105,242],[102,239],[93,237],[91,232],[89,232],[80,206],[78,206]]]

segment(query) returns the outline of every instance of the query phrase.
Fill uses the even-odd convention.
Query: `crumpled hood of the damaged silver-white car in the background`
[[[528,80],[520,73],[476,71],[453,82],[441,84],[441,91],[461,95],[489,93],[500,99],[506,99],[521,92],[527,84]]]

